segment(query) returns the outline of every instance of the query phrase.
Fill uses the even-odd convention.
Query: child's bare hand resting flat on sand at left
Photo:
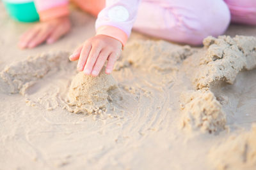
[[[68,17],[60,17],[40,22],[32,29],[25,32],[19,41],[20,48],[34,48],[41,43],[54,43],[61,36],[70,31],[70,20]]]

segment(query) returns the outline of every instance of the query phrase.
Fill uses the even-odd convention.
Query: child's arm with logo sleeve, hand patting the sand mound
[[[95,24],[96,36],[85,41],[70,56],[70,60],[78,60],[79,71],[97,76],[108,60],[106,73],[111,73],[131,34],[139,3],[140,0],[106,0],[106,8],[100,11]]]

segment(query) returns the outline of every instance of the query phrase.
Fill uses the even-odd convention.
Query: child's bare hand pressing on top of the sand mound
[[[110,74],[113,70],[116,59],[122,51],[122,43],[115,38],[105,35],[97,35],[88,39],[83,45],[79,46],[69,59],[78,60],[77,70],[84,74],[97,76],[104,66],[106,60],[106,73]]]

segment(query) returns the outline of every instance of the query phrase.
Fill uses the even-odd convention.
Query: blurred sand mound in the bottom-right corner
[[[218,169],[255,169],[256,125],[247,133],[232,136],[220,146],[214,146],[209,160]]]

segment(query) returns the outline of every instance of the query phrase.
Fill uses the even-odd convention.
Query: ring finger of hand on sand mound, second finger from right
[[[106,60],[108,59],[110,52],[109,50],[102,50],[99,54],[99,57],[97,58],[97,61],[95,62],[95,66],[93,67],[92,76],[98,76],[100,73],[100,70],[104,66]]]

